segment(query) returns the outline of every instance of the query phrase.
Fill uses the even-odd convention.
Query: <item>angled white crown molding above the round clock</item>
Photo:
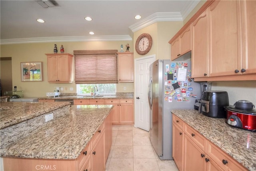
[[[130,26],[132,32],[136,32],[156,22],[183,21],[180,12],[156,12],[145,19]]]

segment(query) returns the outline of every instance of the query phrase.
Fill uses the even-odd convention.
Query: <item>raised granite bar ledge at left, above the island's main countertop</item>
[[[45,107],[45,103],[38,102],[0,102],[0,129],[26,121],[69,104],[69,102],[48,103],[47,107]]]

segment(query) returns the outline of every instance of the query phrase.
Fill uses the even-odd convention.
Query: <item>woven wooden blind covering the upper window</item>
[[[118,83],[116,54],[95,54],[95,52],[91,54],[75,54],[74,51],[75,83]]]

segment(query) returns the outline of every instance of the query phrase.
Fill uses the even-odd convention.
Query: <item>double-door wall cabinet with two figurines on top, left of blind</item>
[[[48,82],[72,83],[73,55],[46,54],[48,68]]]

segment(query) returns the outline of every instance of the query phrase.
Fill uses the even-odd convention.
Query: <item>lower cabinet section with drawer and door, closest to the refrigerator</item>
[[[183,121],[172,115],[172,157],[178,169],[183,170],[184,132]]]

